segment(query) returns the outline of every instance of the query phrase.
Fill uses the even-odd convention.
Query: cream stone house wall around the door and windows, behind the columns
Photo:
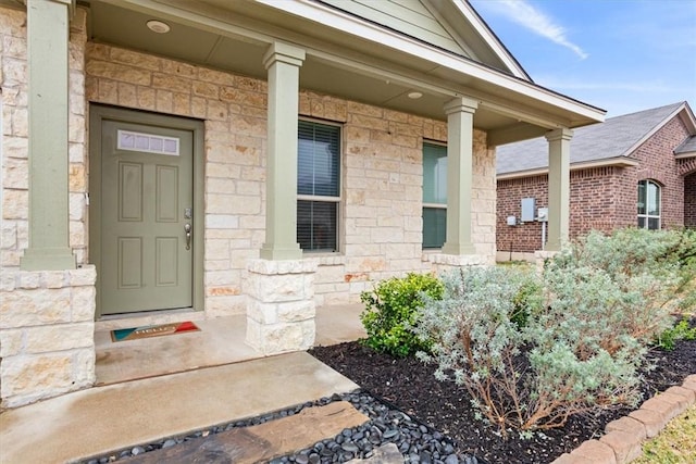
[[[301,68],[300,68],[301,73]],[[88,43],[88,101],[204,120],[208,317],[244,314],[247,262],[265,227],[266,83]],[[446,141],[445,121],[300,91],[300,116],[341,124],[340,252],[319,262],[316,304],[358,302],[375,280],[431,271],[422,235],[422,141]],[[495,256],[495,151],[475,130],[474,238]]]

